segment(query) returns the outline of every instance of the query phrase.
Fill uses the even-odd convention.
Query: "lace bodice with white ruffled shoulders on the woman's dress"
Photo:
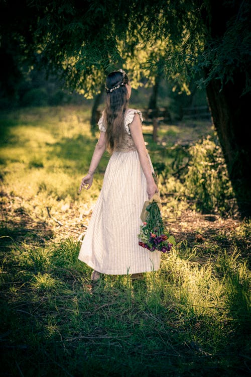
[[[143,122],[143,117],[140,110],[128,109],[124,117],[124,129],[126,130],[124,141],[122,144],[117,145],[114,151],[131,152],[131,151],[136,150],[136,146],[134,144],[133,138],[131,136],[131,131],[130,131],[130,124],[133,122],[135,114],[139,114],[140,120],[141,122]],[[102,132],[106,131],[103,115],[98,121],[98,128]]]

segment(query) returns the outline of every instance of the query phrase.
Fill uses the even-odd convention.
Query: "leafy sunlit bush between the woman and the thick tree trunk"
[[[153,160],[159,175],[160,194],[165,196],[173,193],[182,201],[187,200],[190,206],[193,203],[196,210],[204,214],[233,214],[236,202],[216,135],[212,131],[207,137],[200,138],[201,135],[197,135],[196,143],[182,146],[172,145],[170,131],[166,131],[166,135],[168,132],[170,135],[166,137],[170,144],[164,142],[164,145],[151,145],[160,154]]]

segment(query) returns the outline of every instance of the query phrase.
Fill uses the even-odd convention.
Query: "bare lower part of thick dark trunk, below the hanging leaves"
[[[234,83],[224,85],[212,80],[206,88],[214,126],[221,144],[228,175],[242,217],[251,216],[251,128],[250,96],[241,96],[244,77],[235,75]]]

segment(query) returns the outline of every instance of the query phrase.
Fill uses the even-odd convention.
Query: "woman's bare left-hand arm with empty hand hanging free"
[[[91,158],[91,163],[88,170],[88,174],[86,174],[81,180],[81,184],[78,190],[79,193],[81,192],[83,187],[84,189],[86,188],[86,190],[89,190],[90,186],[92,185],[93,174],[99,164],[99,161],[101,160],[101,157],[105,149],[106,149],[105,133],[101,131],[98,142],[95,146],[95,149]]]

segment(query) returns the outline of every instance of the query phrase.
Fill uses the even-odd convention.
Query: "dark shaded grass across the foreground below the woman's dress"
[[[180,303],[161,302],[158,287],[146,290],[147,282],[142,283],[136,288],[122,276],[104,276],[92,292],[61,285],[56,292],[26,286],[19,298],[12,293],[0,309],[2,371],[76,377],[248,375],[247,353],[238,350],[234,330],[229,334],[218,324],[223,346],[213,352],[213,318],[182,319]]]

